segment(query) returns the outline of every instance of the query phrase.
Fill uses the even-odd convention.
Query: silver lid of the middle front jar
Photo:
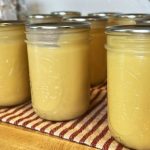
[[[83,22],[58,22],[58,23],[40,23],[27,25],[29,29],[56,30],[56,29],[89,29],[88,23]]]

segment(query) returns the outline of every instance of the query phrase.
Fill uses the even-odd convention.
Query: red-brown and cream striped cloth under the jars
[[[127,150],[110,135],[107,125],[106,86],[91,90],[91,107],[82,117],[65,122],[51,122],[35,114],[30,103],[0,109],[0,120],[72,142],[103,150]]]

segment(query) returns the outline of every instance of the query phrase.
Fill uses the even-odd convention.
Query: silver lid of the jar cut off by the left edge
[[[15,21],[15,20],[0,21],[0,27],[18,26],[18,25],[24,25],[24,23],[21,21]]]

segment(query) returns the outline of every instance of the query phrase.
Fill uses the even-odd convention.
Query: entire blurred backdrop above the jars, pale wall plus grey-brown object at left
[[[150,13],[150,0],[0,0],[0,20],[52,11]]]

